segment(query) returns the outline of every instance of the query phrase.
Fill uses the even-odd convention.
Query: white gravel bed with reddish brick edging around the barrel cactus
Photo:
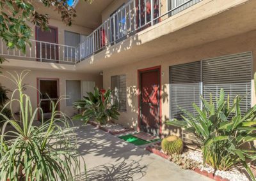
[[[180,155],[168,156],[161,149],[161,144],[153,144],[149,145],[146,148],[148,151],[156,154],[157,156],[161,156],[164,159],[168,159],[178,165],[180,165],[184,169],[191,169],[200,173],[201,175],[205,175],[206,177],[212,178],[214,180],[230,180],[230,181],[249,181],[250,177],[247,176],[246,170],[244,170],[243,166],[236,166],[236,168],[232,168],[228,171],[215,171],[211,166],[203,165],[203,154],[197,150],[191,150],[188,148],[184,148],[184,151]]]

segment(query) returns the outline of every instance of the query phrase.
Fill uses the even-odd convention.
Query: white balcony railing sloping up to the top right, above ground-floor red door
[[[131,0],[77,47],[77,61],[157,24],[202,0]]]

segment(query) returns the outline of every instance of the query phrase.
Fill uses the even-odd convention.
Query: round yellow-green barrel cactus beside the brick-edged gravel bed
[[[171,135],[162,140],[161,147],[164,153],[170,156],[180,154],[183,150],[183,141],[178,136]]]

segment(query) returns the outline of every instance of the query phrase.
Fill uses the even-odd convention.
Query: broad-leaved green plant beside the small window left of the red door
[[[118,119],[117,106],[111,105],[111,91],[101,90],[94,87],[94,92],[87,92],[88,97],[74,103],[77,109],[81,108],[83,113],[76,115],[73,119],[95,120],[99,124],[106,124],[110,119]]]

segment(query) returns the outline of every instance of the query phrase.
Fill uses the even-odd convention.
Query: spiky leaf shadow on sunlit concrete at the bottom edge
[[[82,180],[133,180],[145,176],[147,166],[141,166],[139,162],[124,160],[116,164],[104,164],[87,170],[87,175],[81,175],[77,181]],[[87,176],[87,177],[86,177]]]

